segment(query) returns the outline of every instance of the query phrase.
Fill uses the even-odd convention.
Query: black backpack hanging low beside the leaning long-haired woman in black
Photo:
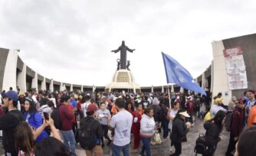
[[[195,155],[197,154],[209,154],[211,151],[211,148],[208,146],[208,141],[205,138],[205,135],[200,134],[199,138],[195,141],[195,148],[194,152]]]

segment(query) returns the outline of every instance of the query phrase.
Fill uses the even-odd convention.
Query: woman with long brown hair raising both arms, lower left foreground
[[[21,122],[17,128],[15,133],[15,143],[16,147],[18,147],[18,155],[19,156],[31,156],[34,155],[36,148],[36,139],[41,132],[44,131],[46,126],[50,125],[51,132],[54,138],[57,138],[61,141],[61,136],[58,134],[57,129],[54,127],[54,121],[49,117],[49,120],[44,119],[44,124],[42,124],[37,129],[33,129],[28,122]],[[54,146],[55,147],[55,146]],[[48,149],[48,148],[47,148]]]

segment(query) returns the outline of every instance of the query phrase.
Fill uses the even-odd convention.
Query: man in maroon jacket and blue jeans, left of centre
[[[59,106],[59,115],[61,118],[61,135],[64,138],[64,145],[70,149],[71,153],[75,155],[76,141],[74,132],[72,131],[74,122],[74,112],[69,109],[69,96],[61,96],[61,105]]]

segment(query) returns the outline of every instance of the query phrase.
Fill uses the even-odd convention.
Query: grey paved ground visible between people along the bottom
[[[205,133],[205,129],[202,126],[202,121],[196,122],[195,126],[192,127],[187,135],[188,141],[182,143],[182,156],[192,156],[195,155],[194,153],[194,147],[195,147],[195,140],[198,138],[200,133]],[[215,151],[215,156],[225,156],[225,151],[228,147],[228,139],[229,139],[229,133],[225,131],[225,129],[222,132],[221,135],[222,141],[218,142],[218,147]],[[133,142],[133,138],[132,138]],[[169,146],[170,146],[170,140],[163,141],[161,145],[156,145],[151,147],[151,153],[153,156],[168,156],[169,153]],[[132,152],[133,143],[130,146],[130,155],[131,156],[138,156],[139,152]],[[141,148],[140,148],[141,149]],[[111,151],[110,147],[105,145],[103,148],[104,155],[110,156]],[[2,143],[0,145],[0,155],[3,155],[2,150]],[[85,156],[85,151],[79,147],[77,147],[77,155],[78,156]],[[200,155],[200,154],[199,154]]]

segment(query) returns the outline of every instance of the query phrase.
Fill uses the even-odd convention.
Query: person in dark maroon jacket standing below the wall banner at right
[[[235,106],[231,120],[231,132],[229,137],[227,156],[231,156],[232,151],[235,150],[235,144],[238,141],[239,135],[245,127],[245,99],[238,99],[238,106]]]

